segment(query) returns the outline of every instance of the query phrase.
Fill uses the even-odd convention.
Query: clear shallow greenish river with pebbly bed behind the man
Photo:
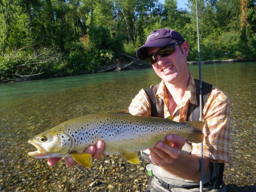
[[[189,66],[189,71],[198,78],[198,66]],[[202,80],[214,86],[218,82],[231,100],[227,191],[256,191],[256,62],[217,63],[216,74],[217,79],[214,64],[202,65]],[[134,165],[110,156],[90,168],[68,168],[62,160],[52,173],[45,159],[27,155],[35,150],[27,140],[74,117],[128,108],[141,88],[159,81],[148,68],[1,84],[0,191],[145,190],[144,161]]]

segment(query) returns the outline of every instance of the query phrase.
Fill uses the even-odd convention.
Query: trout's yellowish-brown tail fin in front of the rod
[[[205,122],[202,121],[186,121],[190,127],[187,140],[193,143],[201,143],[204,140],[203,127]]]

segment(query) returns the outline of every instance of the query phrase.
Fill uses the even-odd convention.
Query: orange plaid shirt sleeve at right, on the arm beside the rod
[[[220,91],[219,91],[220,92]],[[216,92],[217,93],[217,92]],[[215,96],[218,94],[214,94]],[[229,163],[231,125],[230,100],[224,93],[208,98],[204,107],[203,156],[212,162]],[[215,97],[215,98],[214,98]],[[200,154],[200,143],[192,143],[192,154]]]

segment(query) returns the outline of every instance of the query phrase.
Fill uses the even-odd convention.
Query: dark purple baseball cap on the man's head
[[[148,57],[148,47],[165,47],[170,44],[173,39],[182,42],[185,41],[180,33],[172,29],[164,28],[152,31],[149,34],[146,43],[137,50],[136,55],[139,60],[145,60]]]

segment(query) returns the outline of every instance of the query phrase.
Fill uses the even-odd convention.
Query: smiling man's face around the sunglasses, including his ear
[[[172,40],[171,43],[177,42]],[[187,56],[189,45],[184,41],[182,44],[177,44],[176,51],[167,57],[157,56],[157,61],[152,64],[156,74],[164,80],[164,82],[175,84],[175,82],[182,82],[188,75]],[[180,47],[182,52],[180,50]],[[148,55],[158,52],[161,47],[150,47],[147,49]]]

